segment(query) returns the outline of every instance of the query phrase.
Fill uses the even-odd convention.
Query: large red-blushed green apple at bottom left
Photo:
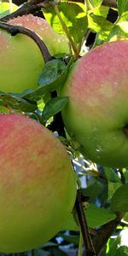
[[[76,177],[51,131],[20,114],[0,114],[0,252],[41,246],[73,210]]]

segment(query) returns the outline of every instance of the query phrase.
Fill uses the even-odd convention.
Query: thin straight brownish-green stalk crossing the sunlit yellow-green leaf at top
[[[69,43],[71,44],[71,46],[73,48],[74,56],[76,59],[78,59],[79,58],[79,49],[77,49],[77,47],[73,41],[73,38],[71,37],[70,33],[68,32],[67,26],[61,18],[60,11],[59,11],[57,5],[55,5],[55,13],[58,16],[58,19],[60,20],[60,23],[61,23],[61,27],[62,27],[63,31],[66,33]]]

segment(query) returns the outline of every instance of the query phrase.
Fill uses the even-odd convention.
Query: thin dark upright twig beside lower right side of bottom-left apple
[[[81,189],[77,190],[77,199],[76,199],[75,207],[78,213],[79,224],[80,224],[81,232],[83,235],[86,256],[95,256],[96,255],[95,249],[93,247],[93,244],[90,238],[90,232],[89,232],[88,224],[84,214]]]

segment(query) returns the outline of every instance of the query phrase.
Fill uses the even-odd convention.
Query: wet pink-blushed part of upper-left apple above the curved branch
[[[47,20],[33,15],[24,15],[9,20],[9,24],[24,26],[36,32],[43,39],[52,56],[62,57],[70,53],[69,43],[65,35],[57,34]]]

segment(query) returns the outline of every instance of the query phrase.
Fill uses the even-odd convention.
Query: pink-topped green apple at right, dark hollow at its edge
[[[69,135],[89,160],[128,167],[128,41],[91,49],[76,61],[61,96]]]

